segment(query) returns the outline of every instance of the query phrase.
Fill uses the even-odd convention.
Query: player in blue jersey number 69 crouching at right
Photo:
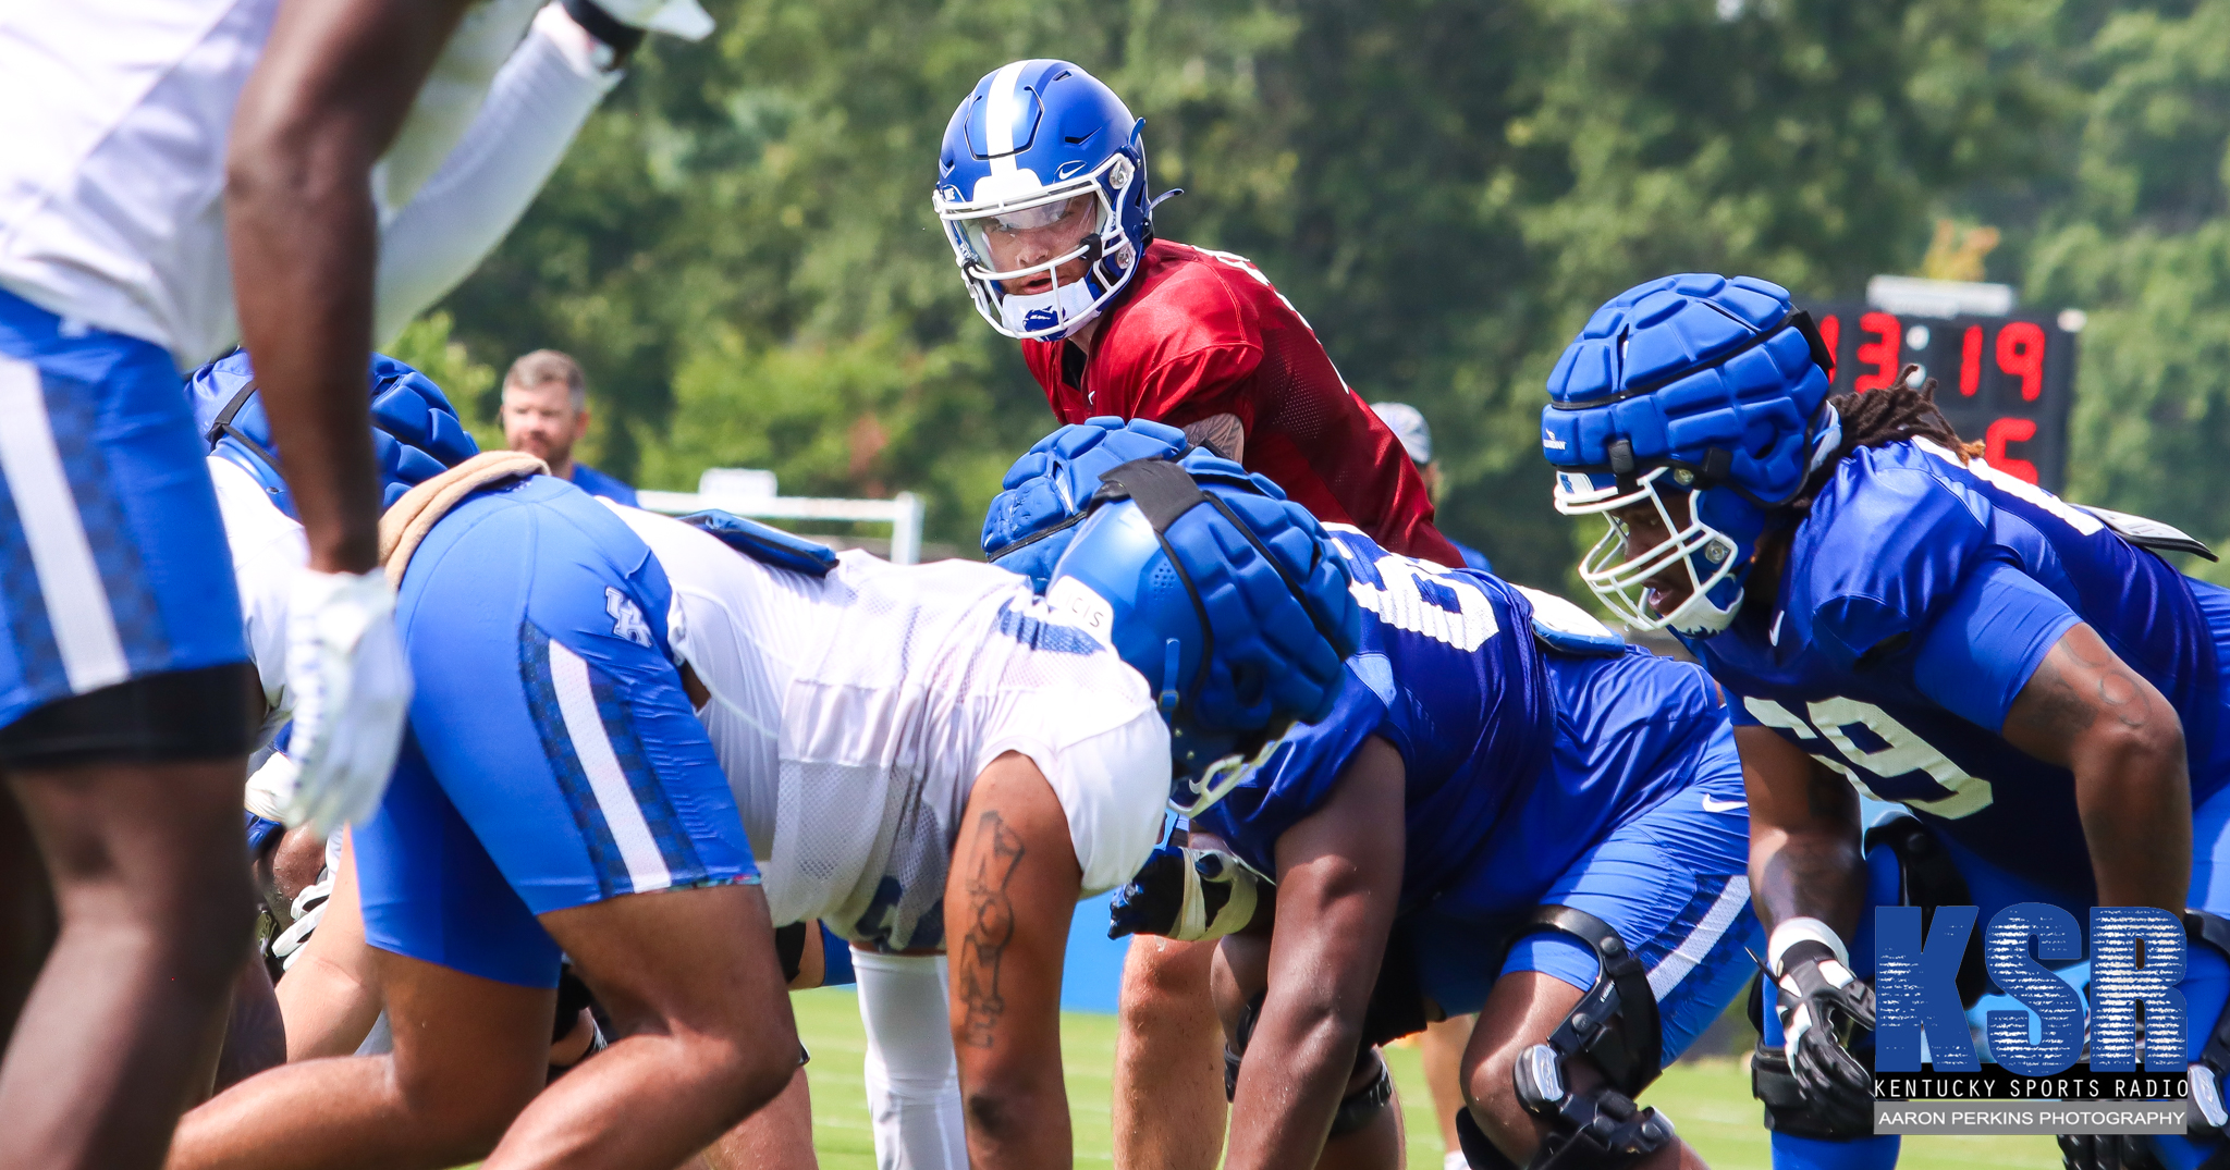
[[[2221,1148],[2210,1090],[2230,1056],[2210,1041],[2230,965],[2208,943],[2230,938],[2230,591],[2161,557],[2190,537],[1991,468],[1916,370],[1842,397],[1829,370],[1786,290],[1664,276],[1597,310],[1541,415],[1557,508],[1610,526],[1588,586],[1677,633],[1728,693],[1782,992],[1753,1065],[1775,1161],[1896,1159],[1896,1137],[1871,1137],[1873,956],[1851,945],[1867,793],[1907,805],[1920,854],[1951,862],[1933,905],[1982,923],[2011,903],[2078,923],[2159,907],[2161,929],[2190,929],[2208,1137],[2063,1148],[2076,1168],[2147,1145],[2194,1166]]]

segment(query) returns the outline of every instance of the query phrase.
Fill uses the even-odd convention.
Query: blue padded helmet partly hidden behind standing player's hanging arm
[[[479,455],[479,443],[464,430],[457,408],[426,374],[392,357],[372,354],[370,392],[381,508],[390,508],[413,486]],[[234,350],[194,370],[185,379],[185,394],[210,455],[254,477],[272,504],[292,517],[294,497],[279,475],[279,443],[272,441],[248,350]]]

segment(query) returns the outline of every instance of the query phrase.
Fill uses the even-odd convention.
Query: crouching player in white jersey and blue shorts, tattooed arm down
[[[502,1134],[491,1166],[671,1168],[792,1081],[769,943],[809,918],[950,949],[972,1163],[1066,1159],[1068,914],[1144,860],[1171,784],[1329,700],[1354,602],[1316,521],[1164,466],[1077,530],[1097,593],[1055,611],[997,568],[475,488],[500,459],[533,466],[390,510],[419,693],[357,887],[395,1052],[250,1079],[174,1166],[453,1166]],[[533,1099],[560,947],[622,1039]]]

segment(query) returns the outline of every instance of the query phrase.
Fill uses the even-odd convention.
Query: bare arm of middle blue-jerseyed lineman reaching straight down
[[[1378,735],[1356,749],[1331,800],[1278,838],[1267,996],[1231,1105],[1233,1170],[1313,1166],[1340,1099],[1360,1088],[1349,1081],[1400,896],[1403,842],[1403,760]],[[1226,943],[1226,954],[1244,947]],[[1251,994],[1244,965],[1233,974]],[[1235,1005],[1224,1007],[1229,1016]],[[1380,1114],[1371,1130],[1392,1132],[1389,1121]]]

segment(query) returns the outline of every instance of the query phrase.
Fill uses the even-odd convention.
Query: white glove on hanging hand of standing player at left
[[[288,825],[330,833],[379,807],[410,713],[388,575],[303,568],[288,604],[285,673],[299,773],[270,784]]]

